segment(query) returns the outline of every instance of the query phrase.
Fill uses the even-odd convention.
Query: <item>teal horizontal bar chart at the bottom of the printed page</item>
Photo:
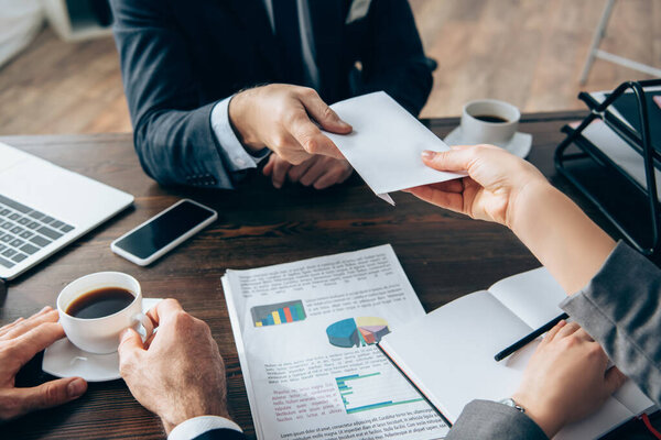
[[[347,414],[422,402],[401,374],[351,374],[336,377],[335,383]]]

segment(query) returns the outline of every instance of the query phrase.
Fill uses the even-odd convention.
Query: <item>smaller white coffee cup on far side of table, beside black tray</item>
[[[502,118],[503,122],[487,122],[476,117]],[[497,99],[478,99],[462,111],[462,142],[467,145],[495,144],[505,146],[517,133],[521,112],[511,103]]]

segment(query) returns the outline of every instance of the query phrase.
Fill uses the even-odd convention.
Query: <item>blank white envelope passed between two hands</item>
[[[388,193],[464,177],[422,163],[424,150],[449,147],[383,91],[330,106],[354,127],[350,134],[325,132],[372,191],[394,205]]]

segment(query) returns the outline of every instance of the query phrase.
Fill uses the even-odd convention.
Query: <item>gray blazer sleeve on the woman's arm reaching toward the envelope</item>
[[[657,404],[661,402],[660,294],[661,271],[620,242],[587,287],[560,305]]]

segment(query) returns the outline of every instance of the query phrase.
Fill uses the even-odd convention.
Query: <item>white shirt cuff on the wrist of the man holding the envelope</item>
[[[212,110],[212,129],[227,157],[227,166],[232,172],[256,168],[268,156],[269,150],[252,155],[246,151],[229,122],[229,101],[232,97],[219,101]]]

